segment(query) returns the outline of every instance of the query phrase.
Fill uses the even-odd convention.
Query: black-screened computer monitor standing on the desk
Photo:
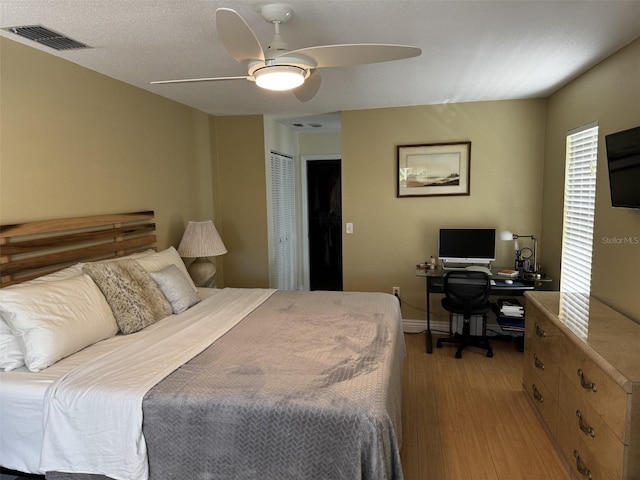
[[[438,259],[449,264],[490,264],[496,260],[495,228],[441,228]]]

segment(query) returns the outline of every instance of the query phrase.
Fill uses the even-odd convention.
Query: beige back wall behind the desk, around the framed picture
[[[424,319],[415,265],[437,256],[440,227],[539,234],[544,100],[447,104],[342,114],[345,290],[399,286],[406,319]],[[396,146],[470,140],[471,195],[396,198]],[[526,246],[523,242],[521,246]],[[512,265],[513,242],[498,242]]]

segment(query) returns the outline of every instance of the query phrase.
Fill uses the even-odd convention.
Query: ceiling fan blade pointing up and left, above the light
[[[216,28],[222,44],[231,56],[244,66],[264,61],[262,46],[244,19],[230,8],[216,10]]]

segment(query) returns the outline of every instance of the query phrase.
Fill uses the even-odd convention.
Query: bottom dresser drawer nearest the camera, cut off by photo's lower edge
[[[571,468],[574,478],[579,480],[618,480],[606,473],[599,462],[600,454],[598,456],[594,455],[578,433],[567,418],[561,416],[558,419],[556,441],[558,442],[560,453]]]

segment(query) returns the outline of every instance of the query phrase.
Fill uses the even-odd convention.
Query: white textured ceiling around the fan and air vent
[[[56,51],[96,72],[214,115],[268,114],[305,125],[352,109],[544,97],[640,36],[640,0],[291,0],[281,27],[291,50],[393,43],[416,58],[327,68],[309,102],[246,80],[150,85],[245,75],[216,34],[215,11],[237,10],[266,47],[265,3],[233,0],[0,0],[0,27],[40,24],[92,48]],[[310,127],[313,129],[313,127]]]

